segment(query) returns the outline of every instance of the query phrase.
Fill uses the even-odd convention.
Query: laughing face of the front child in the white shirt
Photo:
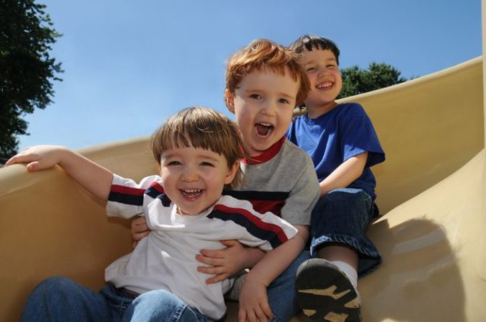
[[[221,197],[239,162],[228,167],[223,155],[203,148],[170,148],[161,154],[163,189],[181,215],[197,215]]]

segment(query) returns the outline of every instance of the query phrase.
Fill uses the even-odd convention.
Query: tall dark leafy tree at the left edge
[[[17,152],[17,135],[28,135],[22,119],[52,102],[52,82],[61,70],[49,55],[61,34],[45,6],[34,0],[0,0],[0,157]]]

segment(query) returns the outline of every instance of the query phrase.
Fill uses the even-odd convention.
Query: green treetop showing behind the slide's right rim
[[[370,63],[368,70],[362,70],[358,66],[341,70],[343,89],[338,98],[346,98],[375,89],[405,82],[406,78],[400,77],[400,72],[385,63]]]

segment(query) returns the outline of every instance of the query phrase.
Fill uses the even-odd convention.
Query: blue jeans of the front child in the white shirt
[[[20,321],[207,322],[208,319],[168,291],[135,296],[106,285],[97,293],[66,277],[51,277],[32,291]]]

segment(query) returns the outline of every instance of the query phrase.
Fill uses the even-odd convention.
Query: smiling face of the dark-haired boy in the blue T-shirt
[[[336,56],[329,49],[303,50],[300,64],[309,77],[311,90],[304,100],[310,118],[329,112],[337,103],[343,81]]]

